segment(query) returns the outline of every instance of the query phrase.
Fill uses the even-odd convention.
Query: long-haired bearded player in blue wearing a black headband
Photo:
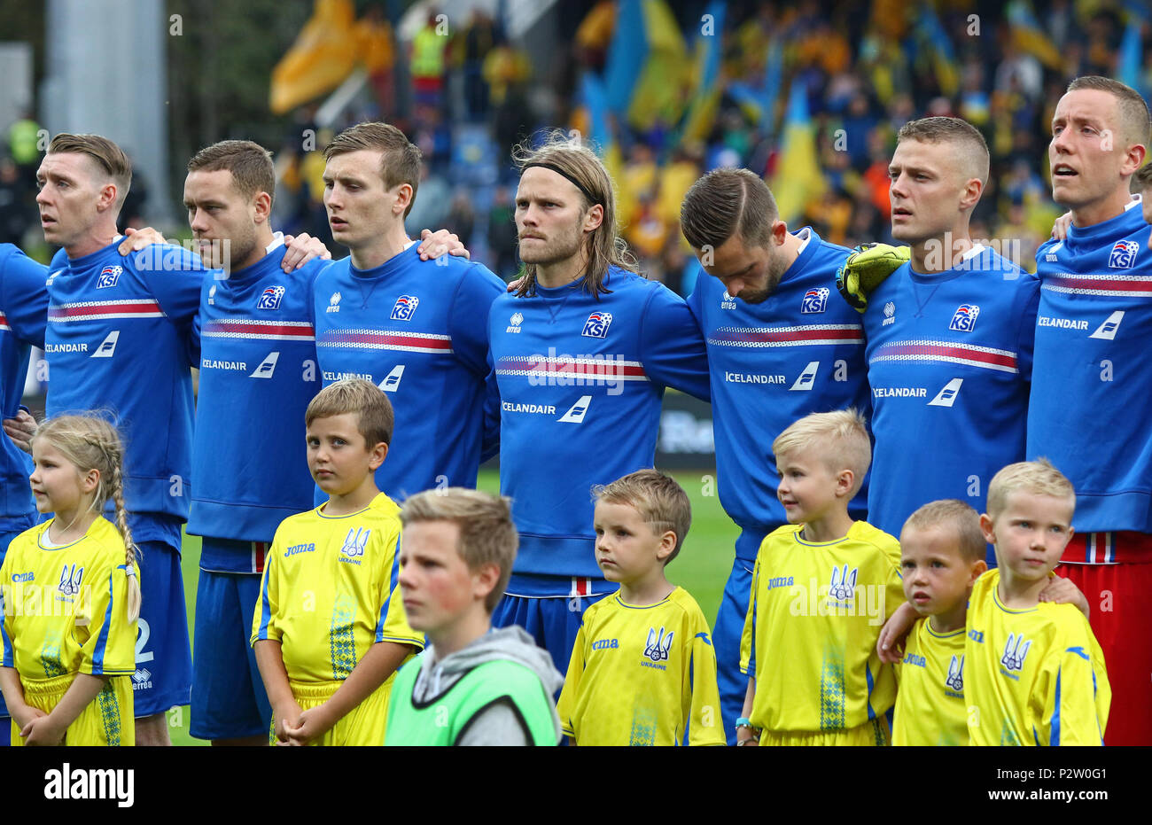
[[[596,563],[590,490],[651,468],[666,386],[708,398],[683,300],[635,272],[604,165],[564,136],[516,154],[525,278],[488,317],[500,487],[521,545],[493,625],[520,625],[556,667],[584,608],[615,590]]]

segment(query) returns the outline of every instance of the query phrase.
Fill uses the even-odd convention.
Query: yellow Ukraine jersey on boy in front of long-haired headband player
[[[654,605],[620,593],[584,612],[556,705],[590,744],[723,744],[708,623],[687,590]]]

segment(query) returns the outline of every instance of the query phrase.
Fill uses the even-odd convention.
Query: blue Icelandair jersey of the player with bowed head
[[[787,522],[776,499],[772,442],[810,412],[855,407],[869,417],[861,315],[836,294],[849,250],[795,233],[799,257],[766,301],[733,298],[702,273],[688,298],[707,342],[720,504],[741,528],[767,533]],[[849,505],[864,520],[867,480]],[[756,559],[746,547],[746,561]]]

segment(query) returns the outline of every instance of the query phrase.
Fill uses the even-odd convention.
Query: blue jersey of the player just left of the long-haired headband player
[[[402,501],[432,487],[475,487],[485,438],[487,312],[505,282],[480,264],[420,260],[411,244],[373,270],[349,258],[316,280],[324,386],[364,378],[396,425],[377,486]],[[316,502],[327,500],[317,491]]]

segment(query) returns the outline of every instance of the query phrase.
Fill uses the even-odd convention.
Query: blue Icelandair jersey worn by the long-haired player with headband
[[[492,363],[500,389],[500,490],[513,499],[524,575],[602,583],[594,558],[592,487],[655,457],[660,400],[672,386],[707,400],[704,339],[683,298],[609,267],[609,292],[581,282],[492,304]]]

